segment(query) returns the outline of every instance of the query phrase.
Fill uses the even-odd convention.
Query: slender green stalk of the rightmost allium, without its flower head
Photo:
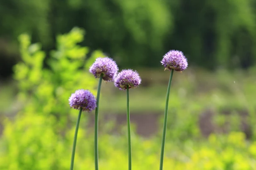
[[[171,75],[169,79],[169,84],[167,88],[167,95],[166,95],[166,103],[165,103],[165,110],[164,110],[164,130],[163,130],[163,138],[162,138],[162,148],[161,148],[161,158],[160,158],[160,169],[163,169],[163,162],[164,162],[164,144],[165,144],[165,134],[166,134],[166,127],[167,127],[167,115],[168,115],[168,103],[169,103],[169,95],[171,89],[171,79],[173,76],[174,69],[171,69]]]

